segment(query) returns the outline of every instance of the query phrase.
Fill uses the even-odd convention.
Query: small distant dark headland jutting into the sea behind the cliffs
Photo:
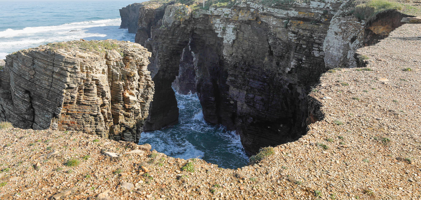
[[[120,29],[128,29],[129,33],[136,33],[137,21],[139,19],[139,9],[143,5],[140,3],[133,3],[120,9],[121,24]]]

